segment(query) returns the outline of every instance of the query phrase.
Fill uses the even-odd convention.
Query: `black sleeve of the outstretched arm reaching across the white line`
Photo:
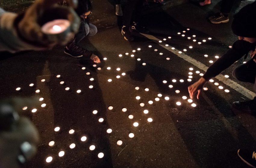
[[[233,44],[232,49],[229,49],[226,54],[217,59],[204,73],[203,78],[206,80],[211,79],[212,77],[217,76],[223,70],[234,64],[237,60],[242,58],[251,50],[251,43],[238,40]]]

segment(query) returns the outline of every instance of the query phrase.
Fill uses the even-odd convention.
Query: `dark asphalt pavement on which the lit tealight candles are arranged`
[[[233,101],[248,100],[244,92],[239,93],[223,83],[227,81],[214,78],[214,82],[230,92],[226,93],[209,82],[205,86],[208,90],[203,91],[200,100],[194,98],[196,107],[182,99],[182,96],[189,98],[187,87],[200,78],[196,71],[204,73],[200,64],[191,64],[193,59],[210,66],[209,60],[216,60],[214,56],[224,54],[237,39],[230,29],[232,16],[226,24],[215,25],[207,21],[208,16],[220,8],[220,1],[203,7],[192,3],[167,9],[158,7],[155,12],[152,10],[143,16],[141,22],[150,29],[150,35],[160,40],[166,38],[166,41],[162,41],[169,48],[163,48],[159,42],[139,33],[135,33],[136,41],[125,41],[117,25],[121,18],[114,15],[111,3],[104,0],[102,3],[108,6],[101,6],[100,2],[93,1],[91,20],[98,26],[98,33],[81,43],[81,46],[94,51],[101,58],[97,67],[83,57],[76,59],[65,55],[63,47],[59,46],[43,52],[1,53],[1,98],[38,95],[44,98],[42,103],[46,104],[44,108],[35,107],[36,113],[31,113],[32,109],[24,111],[41,136],[36,157],[25,167],[248,167],[237,156],[237,150],[255,149],[255,117],[231,109]],[[236,1],[232,13],[248,3],[250,1]],[[98,6],[105,10],[101,12]],[[104,19],[107,15],[112,18]],[[178,32],[181,34],[178,35]],[[168,39],[169,36],[171,39]],[[212,39],[208,40],[209,37]],[[197,41],[193,42],[192,39]],[[203,39],[207,41],[199,45],[197,42]],[[184,53],[189,57],[175,54],[177,51],[172,51],[171,47],[182,52],[187,49]],[[137,48],[141,48],[141,51],[137,51]],[[158,52],[154,52],[154,49],[158,49]],[[129,55],[125,55],[126,52]],[[119,57],[119,54],[123,56]],[[131,57],[131,54],[135,56]],[[141,60],[137,61],[137,58]],[[253,85],[238,82],[232,77],[234,67],[243,61],[239,60],[221,74],[229,75],[229,79],[237,82],[234,86],[242,85],[253,91]],[[82,70],[82,67],[86,67],[86,70]],[[111,69],[107,70],[107,67]],[[120,71],[116,70],[118,67]],[[190,67],[193,70],[189,70]],[[86,75],[86,72],[90,72],[90,75]],[[187,81],[189,72],[193,73],[191,82]],[[61,77],[57,78],[57,75]],[[119,79],[117,75],[120,75]],[[94,81],[90,81],[90,78],[94,78]],[[41,82],[42,79],[45,82]],[[112,79],[112,82],[108,82],[108,79]],[[177,81],[172,82],[173,79]],[[180,79],[184,82],[180,82]],[[65,84],[61,85],[61,81]],[[30,83],[35,86],[30,87]],[[89,89],[89,85],[93,85],[94,89]],[[169,85],[173,85],[173,88],[169,88]],[[21,87],[20,92],[15,90],[17,87]],[[70,90],[66,91],[66,87]],[[135,87],[139,87],[139,90]],[[149,91],[145,91],[145,88]],[[40,89],[39,94],[35,93],[36,89]],[[80,94],[76,93],[78,89],[82,91]],[[180,93],[177,94],[176,90],[180,90]],[[162,97],[159,97],[160,101],[155,101],[159,93]],[[136,100],[136,96],[140,96],[140,100]],[[169,101],[164,99],[167,96]],[[153,104],[148,101],[153,101]],[[177,101],[181,102],[180,106],[176,105]],[[140,103],[145,106],[140,107]],[[108,110],[109,106],[113,110]],[[127,111],[123,112],[123,108]],[[92,113],[93,110],[98,111],[97,115]],[[144,114],[143,110],[149,113]],[[133,119],[128,118],[130,114]],[[98,122],[99,118],[103,118],[104,122]],[[153,122],[148,122],[148,118],[152,118]],[[134,127],[134,122],[138,122],[139,126]],[[55,132],[55,127],[60,127],[60,131]],[[113,130],[112,133],[106,132],[108,128]],[[74,134],[69,134],[70,129],[75,130]],[[135,136],[129,138],[130,133]],[[80,140],[82,136],[87,137],[85,142]],[[52,140],[55,146],[50,147],[48,143]],[[122,140],[121,146],[117,145],[118,140]],[[76,144],[74,149],[69,148],[71,143]],[[96,146],[95,150],[89,150],[91,145]],[[63,157],[58,156],[61,150],[65,151]],[[98,158],[100,152],[104,153],[101,159]],[[48,156],[53,157],[51,163],[45,161]]]

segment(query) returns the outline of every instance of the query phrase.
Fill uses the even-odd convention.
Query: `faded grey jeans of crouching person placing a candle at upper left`
[[[76,46],[80,43],[81,40],[83,40],[85,37],[92,37],[98,32],[97,27],[91,23],[81,23],[78,33],[76,33],[73,40],[71,40],[67,47],[69,49],[72,49],[73,46]]]

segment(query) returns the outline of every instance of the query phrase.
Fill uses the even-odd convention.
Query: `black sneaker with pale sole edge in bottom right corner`
[[[238,149],[237,155],[244,161],[248,166],[256,168],[256,152],[246,149]]]

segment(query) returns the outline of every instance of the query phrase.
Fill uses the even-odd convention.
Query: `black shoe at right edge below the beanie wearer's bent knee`
[[[253,100],[249,101],[235,101],[233,102],[233,107],[239,111],[244,111],[248,113],[256,112],[256,97]]]

